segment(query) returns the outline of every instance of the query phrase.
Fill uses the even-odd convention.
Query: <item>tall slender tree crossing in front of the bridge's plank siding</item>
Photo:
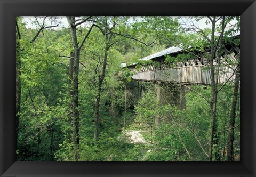
[[[196,21],[201,20],[203,17],[197,17]],[[210,43],[210,52],[207,58],[207,52],[204,57],[200,57],[198,54],[195,54],[196,57],[204,60],[209,64],[210,76],[211,76],[211,99],[210,99],[210,112],[211,112],[211,130],[210,130],[210,146],[209,146],[209,160],[213,159],[213,149],[218,145],[218,134],[217,132],[217,101],[218,101],[218,85],[219,85],[219,74],[220,66],[222,64],[221,58],[223,55],[223,39],[227,37],[228,33],[225,33],[225,28],[227,23],[230,22],[233,17],[207,17],[208,23],[211,24],[210,34],[209,31],[198,28],[194,25],[194,22],[190,21],[190,24],[187,24],[187,31],[196,32],[199,36],[203,37],[202,41]],[[229,33],[231,34],[231,33]],[[195,40],[197,41],[197,39]],[[195,44],[195,43],[194,43]],[[186,46],[186,45],[185,45]],[[198,47],[198,45],[197,45]],[[205,46],[204,46],[205,47]],[[203,49],[204,50],[204,49]],[[191,52],[190,52],[191,53]],[[217,149],[215,150],[215,155],[217,155]],[[219,159],[219,157],[216,156]]]

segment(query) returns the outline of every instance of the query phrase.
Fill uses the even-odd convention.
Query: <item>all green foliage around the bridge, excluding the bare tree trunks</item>
[[[51,18],[58,21],[54,17]],[[200,19],[202,18],[196,18]],[[237,27],[240,24],[239,17],[228,17],[226,20],[230,22],[233,19],[237,19],[238,22],[234,29],[232,27],[226,31],[224,40],[238,44],[238,38],[228,38],[238,31]],[[94,27],[80,51],[79,160],[208,160],[206,154],[209,151],[211,114],[207,101],[211,98],[211,87],[187,86],[190,89],[185,89],[186,108],[180,109],[173,102],[163,102],[157,98],[157,83],[134,81],[134,71],[121,68],[121,63],[136,63],[137,70],[148,65],[156,68],[159,62],[139,59],[176,43],[183,43],[183,49],[188,52],[178,54],[176,57],[166,55],[165,62],[173,64],[194,59],[198,54],[193,53],[195,50],[209,51],[209,41],[200,34],[177,32],[183,30],[183,27],[178,24],[178,18],[173,17],[92,17],[92,20],[102,27],[105,33],[111,31],[113,35],[103,35],[101,30]],[[74,49],[70,31],[68,28],[47,28],[31,43],[37,29],[26,28],[22,18],[17,18],[17,23],[21,34],[17,59],[21,61],[19,79],[22,87],[21,109],[17,112],[20,116],[17,159],[71,161],[74,159],[74,143],[69,56]],[[79,44],[89,32],[91,23],[88,21],[86,25],[77,26]],[[217,28],[217,32],[220,31],[219,25]],[[209,36],[211,29],[203,29],[203,33]],[[218,35],[215,39],[218,39]],[[150,43],[152,44],[147,46]],[[111,47],[107,49],[110,44]],[[100,95],[99,140],[95,144],[95,102],[105,55],[107,66]],[[209,58],[209,53],[202,53],[201,57]],[[230,59],[227,59],[227,62],[231,65],[237,64]],[[170,86],[173,83],[166,85]],[[221,86],[219,85],[219,88]],[[171,88],[169,89],[173,94],[175,90]],[[217,131],[229,128],[232,90],[233,84],[228,82],[218,92]],[[239,106],[236,116],[238,125]],[[161,119],[161,124],[156,124],[156,118]],[[145,143],[132,143],[131,138],[125,135],[127,130],[141,131]],[[235,128],[234,136],[234,154],[239,156],[239,128]],[[214,145],[214,160],[218,160],[217,157],[225,160],[227,138],[227,131],[214,137],[214,141],[218,142]]]

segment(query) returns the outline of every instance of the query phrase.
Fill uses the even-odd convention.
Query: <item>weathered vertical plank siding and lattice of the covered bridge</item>
[[[235,44],[226,44],[223,48],[224,54],[221,57],[223,65],[220,67],[219,74],[219,84],[225,83],[231,77],[231,80],[234,80],[234,69],[235,65],[231,66],[230,61],[234,62],[240,57],[239,45]],[[174,56],[177,53],[170,53],[169,55]],[[229,61],[228,61],[229,59]],[[192,85],[210,85],[211,84],[211,75],[209,68],[209,63],[206,62],[206,59],[191,59],[188,61],[178,61],[177,63],[168,63],[164,62],[164,56],[158,56],[152,58],[151,60],[158,61],[159,66],[154,67],[151,64],[147,64],[140,68],[136,69],[135,65],[127,66],[128,68],[134,70],[135,74],[132,76],[133,79],[138,81],[162,81],[162,82],[181,82],[183,84],[192,84]],[[216,62],[217,60],[214,60]],[[225,62],[226,65],[225,66]],[[173,65],[175,67],[173,67]],[[217,63],[215,63],[217,65]],[[230,66],[232,68],[230,68]]]

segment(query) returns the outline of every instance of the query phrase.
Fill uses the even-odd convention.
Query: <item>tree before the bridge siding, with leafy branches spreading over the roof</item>
[[[195,18],[196,21],[201,20],[203,17],[197,17]],[[207,17],[208,21],[207,23],[211,23],[211,30],[210,29],[200,29],[196,25],[194,25],[193,21],[190,21],[190,23],[184,24],[186,27],[181,28],[178,30],[181,31],[181,36],[178,38],[178,44],[176,44],[179,47],[182,47],[184,51],[188,52],[188,56],[191,57],[191,55],[194,55],[194,57],[199,58],[203,60],[204,62],[207,62],[209,64],[209,71],[211,75],[211,99],[208,101],[210,104],[210,112],[211,112],[211,133],[210,133],[210,147],[209,147],[209,160],[212,160],[213,158],[213,150],[215,154],[215,159],[220,160],[219,150],[218,150],[218,123],[217,123],[217,105],[218,105],[218,92],[221,90],[218,90],[219,85],[219,74],[221,72],[221,66],[226,65],[226,67],[229,67],[234,70],[234,66],[232,66],[232,63],[228,64],[227,58],[224,60],[223,57],[223,41],[226,40],[231,35],[234,35],[234,33],[239,30],[239,19],[237,19],[237,25],[233,25],[232,28],[229,30],[225,30],[227,24],[232,20],[235,19],[235,17]],[[189,34],[187,35],[185,31],[189,31]],[[198,35],[191,35],[190,32],[195,32]],[[186,35],[184,35],[184,33]],[[196,38],[195,38],[196,37]],[[182,39],[183,38],[183,39]],[[188,43],[188,39],[190,40],[190,43]],[[182,46],[180,45],[180,42],[182,42]],[[175,44],[175,42],[170,41],[170,43]],[[199,52],[198,52],[199,51]],[[200,51],[204,51],[204,53],[200,53]],[[227,53],[228,54],[228,53]],[[181,54],[180,54],[181,55]],[[184,57],[184,56],[183,56]],[[177,58],[173,57],[174,60],[177,60]],[[229,78],[230,79],[230,78]],[[228,79],[228,80],[229,80]],[[191,88],[189,88],[191,90]],[[204,96],[203,96],[204,97]]]

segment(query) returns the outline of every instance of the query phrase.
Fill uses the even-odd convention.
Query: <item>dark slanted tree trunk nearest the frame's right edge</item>
[[[239,60],[238,60],[239,61]],[[240,81],[240,64],[238,64],[236,70],[236,77],[235,77],[235,85],[234,85],[234,94],[233,94],[233,101],[232,107],[230,112],[230,123],[229,123],[229,135],[228,135],[228,150],[227,150],[227,161],[234,160],[234,126],[235,126],[235,118],[236,118],[236,106],[237,106],[237,97],[238,97],[238,89],[239,89],[239,81]]]

